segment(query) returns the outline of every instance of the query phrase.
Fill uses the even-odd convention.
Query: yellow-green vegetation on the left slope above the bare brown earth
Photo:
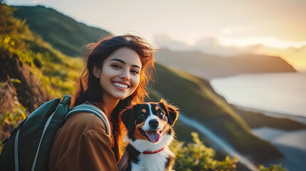
[[[7,8],[1,5],[1,8]],[[24,21],[12,16],[13,9],[6,16],[1,15],[6,23],[0,35],[0,48],[2,53],[18,58],[21,63],[31,66],[31,72],[40,79],[41,86],[53,97],[71,94],[76,86],[76,81],[83,66],[81,58],[72,58],[51,48],[39,36],[31,33]],[[7,21],[6,21],[7,20]]]

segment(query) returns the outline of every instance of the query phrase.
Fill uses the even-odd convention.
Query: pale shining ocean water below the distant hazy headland
[[[210,84],[233,105],[306,117],[306,73],[243,74]]]

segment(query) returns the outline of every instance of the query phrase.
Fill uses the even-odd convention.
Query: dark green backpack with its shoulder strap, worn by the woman
[[[69,115],[77,112],[93,113],[106,125],[106,133],[111,136],[106,115],[93,105],[77,105],[69,108],[70,95],[63,100],[56,98],[34,110],[21,121],[4,140],[0,155],[0,170],[49,170],[49,154],[58,128]]]

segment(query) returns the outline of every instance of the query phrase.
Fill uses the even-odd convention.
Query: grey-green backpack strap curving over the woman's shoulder
[[[105,113],[103,113],[102,110],[96,108],[93,105],[77,105],[76,107],[72,108],[69,113],[67,113],[65,120],[67,120],[68,117],[73,113],[79,113],[79,112],[88,112],[95,114],[98,118],[102,120],[102,122],[106,126],[106,134],[108,136],[111,136],[111,125],[109,124],[108,118],[106,117]]]

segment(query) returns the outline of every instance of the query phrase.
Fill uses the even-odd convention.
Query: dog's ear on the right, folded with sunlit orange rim
[[[174,105],[170,105],[163,98],[159,102],[160,106],[165,110],[168,117],[168,123],[173,126],[175,121],[178,120],[178,108]]]

